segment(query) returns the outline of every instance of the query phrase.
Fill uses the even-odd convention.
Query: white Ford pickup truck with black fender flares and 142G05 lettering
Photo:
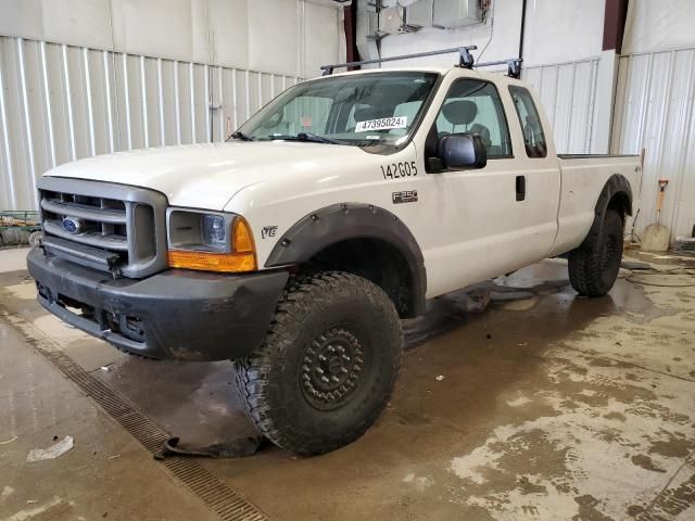
[[[558,157],[513,77],[328,75],[229,142],[48,171],[28,268],[41,305],[121,350],[232,359],[260,431],[320,454],[377,419],[426,300],[564,254],[580,295],[606,294],[640,169]]]

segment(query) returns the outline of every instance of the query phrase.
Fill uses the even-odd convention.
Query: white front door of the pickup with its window
[[[479,135],[488,163],[480,169],[428,175],[426,211],[440,226],[424,249],[428,296],[518,269],[549,251],[557,229],[559,176],[526,170],[526,156],[515,156],[523,154],[520,130],[518,125],[510,129],[507,114],[515,114],[507,92],[491,81],[460,77],[451,84],[429,129],[426,167],[442,155],[439,140],[450,134]]]

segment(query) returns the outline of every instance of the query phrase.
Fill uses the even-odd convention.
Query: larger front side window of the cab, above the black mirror
[[[453,134],[477,134],[488,158],[511,156],[509,127],[495,86],[489,81],[456,80],[435,122],[438,139]]]

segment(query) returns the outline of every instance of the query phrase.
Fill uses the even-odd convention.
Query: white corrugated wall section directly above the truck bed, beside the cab
[[[551,119],[558,153],[591,152],[598,59],[522,68]]]

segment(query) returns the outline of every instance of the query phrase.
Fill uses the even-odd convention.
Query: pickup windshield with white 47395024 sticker
[[[307,81],[282,92],[239,131],[254,140],[401,144],[437,77],[435,73],[387,72]]]

